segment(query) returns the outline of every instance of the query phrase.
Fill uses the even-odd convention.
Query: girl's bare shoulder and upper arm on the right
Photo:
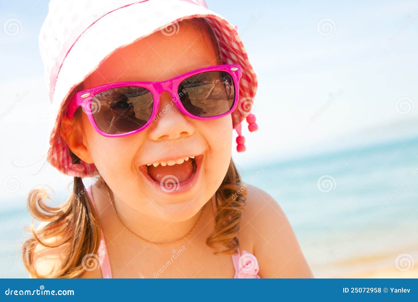
[[[247,187],[240,241],[252,247],[260,277],[310,278],[311,270],[282,208],[268,193],[251,185]]]

